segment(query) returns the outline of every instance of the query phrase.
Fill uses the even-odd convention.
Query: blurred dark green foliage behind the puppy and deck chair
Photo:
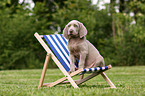
[[[118,4],[111,0],[102,10],[91,0],[33,1],[32,10],[18,0],[0,1],[0,69],[41,68],[46,53],[34,33],[53,34],[57,27],[62,33],[73,19],[86,26],[87,39],[103,55],[106,65],[144,65],[143,0],[120,0]],[[119,13],[115,6],[119,6]],[[135,15],[131,17],[130,12]]]

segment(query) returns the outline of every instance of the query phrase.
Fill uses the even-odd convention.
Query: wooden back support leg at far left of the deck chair
[[[45,73],[46,73],[46,70],[47,70],[49,59],[50,59],[50,54],[47,53],[38,88],[42,87],[42,85],[43,85],[43,81],[44,81],[44,77],[45,77]]]

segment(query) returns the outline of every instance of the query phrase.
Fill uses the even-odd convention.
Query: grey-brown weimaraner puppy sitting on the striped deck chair
[[[99,51],[86,40],[87,29],[77,20],[70,21],[63,30],[63,36],[68,39],[70,56],[70,72],[75,71],[75,58],[79,60],[78,68],[105,66],[104,58]]]

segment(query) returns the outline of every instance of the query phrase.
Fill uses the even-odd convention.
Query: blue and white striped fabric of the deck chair
[[[70,70],[70,59],[69,59],[69,51],[67,47],[68,40],[65,39],[62,34],[55,34],[55,35],[43,35],[44,39],[59,59],[60,63],[63,65],[65,70],[68,72]],[[78,60],[77,60],[78,62]],[[77,62],[75,63],[77,67]],[[96,68],[86,68],[84,69],[83,73],[86,72],[94,72],[100,70],[107,70],[108,66],[105,67],[96,67]]]

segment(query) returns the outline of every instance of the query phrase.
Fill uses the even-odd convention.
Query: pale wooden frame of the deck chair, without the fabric
[[[43,48],[46,50],[47,55],[46,55],[46,59],[45,59],[45,63],[43,66],[43,70],[42,70],[42,74],[41,74],[41,78],[40,78],[40,82],[39,82],[39,86],[38,88],[42,87],[42,86],[47,86],[47,87],[53,87],[57,84],[60,83],[70,83],[74,88],[79,88],[78,85],[82,84],[86,81],[88,81],[89,79],[101,74],[101,76],[107,81],[107,83],[110,85],[111,88],[116,88],[115,85],[111,82],[111,80],[107,77],[107,75],[104,73],[104,71],[100,71],[100,72],[94,72],[91,75],[89,75],[88,77],[81,79],[81,80],[77,80],[74,81],[72,79],[73,76],[82,73],[83,69],[79,69],[71,74],[68,74],[68,72],[65,70],[65,68],[62,66],[62,64],[60,63],[60,61],[56,58],[56,56],[53,54],[53,52],[49,49],[49,47],[47,46],[47,44],[43,41],[43,35],[39,35],[38,33],[35,33],[34,36],[37,38],[37,40],[39,41],[39,43],[43,46]],[[49,63],[49,59],[50,57],[52,58],[52,60],[56,63],[56,65],[58,66],[58,68],[62,71],[62,73],[65,75],[63,78],[52,82],[52,83],[46,83],[43,84],[44,78],[45,78],[45,74],[46,74],[46,70],[47,70],[47,66]],[[111,68],[111,65],[108,66],[108,68]],[[65,81],[68,80],[68,81]]]

